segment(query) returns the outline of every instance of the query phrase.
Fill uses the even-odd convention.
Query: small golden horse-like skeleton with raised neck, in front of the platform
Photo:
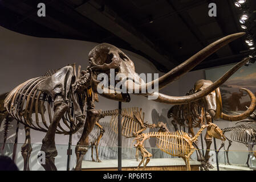
[[[137,169],[140,168],[141,164],[144,163],[145,158],[147,158],[146,162],[144,163],[144,168],[149,163],[150,157],[152,156],[145,147],[144,141],[149,138],[156,138],[156,147],[159,148],[161,151],[165,152],[166,154],[180,157],[184,160],[186,164],[186,168],[188,171],[191,170],[189,158],[196,150],[193,146],[193,143],[197,141],[198,137],[202,133],[202,131],[206,128],[212,128],[210,130],[209,135],[217,136],[218,138],[225,140],[225,136],[223,135],[222,131],[218,128],[217,125],[213,123],[209,123],[209,125],[201,126],[201,129],[198,130],[197,134],[194,137],[190,137],[188,133],[184,131],[175,131],[175,132],[151,132],[151,133],[143,133],[138,135],[134,140],[137,141],[135,147],[141,152],[142,160],[139,163]]]

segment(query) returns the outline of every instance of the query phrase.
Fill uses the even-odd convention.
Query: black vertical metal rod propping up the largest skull
[[[122,133],[121,133],[121,109],[122,102],[118,102],[118,171],[122,170]]]

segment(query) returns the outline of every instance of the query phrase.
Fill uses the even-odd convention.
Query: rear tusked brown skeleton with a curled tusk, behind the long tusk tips
[[[246,58],[244,60],[248,60]],[[210,80],[198,80],[194,84],[194,89],[190,90],[188,95],[195,94],[201,92],[205,88],[208,88],[209,85],[212,85],[213,82]],[[172,118],[172,124],[174,129],[177,130],[177,125],[188,127],[189,134],[194,136],[193,128],[200,127],[201,124],[209,124],[212,122],[212,119],[218,120],[220,118],[227,121],[240,121],[241,119],[245,119],[253,113],[256,107],[256,97],[254,94],[245,88],[241,88],[242,90],[249,94],[251,98],[250,107],[242,114],[237,115],[228,115],[222,113],[222,100],[221,100],[221,92],[220,88],[213,90],[213,92],[209,93],[207,96],[203,97],[201,100],[196,102],[192,102],[185,105],[174,105],[168,111],[168,118]],[[206,119],[206,115],[210,115],[210,119]],[[209,130],[209,129],[208,129]],[[197,150],[197,158],[198,161],[204,163],[204,168],[208,170],[208,168],[212,168],[212,165],[208,163],[209,161],[209,150],[212,144],[212,137],[206,133],[205,135],[206,142],[206,152],[205,156],[202,156],[200,150]],[[195,144],[197,149],[198,146]]]

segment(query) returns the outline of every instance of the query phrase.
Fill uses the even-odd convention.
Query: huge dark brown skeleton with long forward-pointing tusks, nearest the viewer
[[[5,108],[9,115],[17,119],[18,122],[23,123],[27,130],[34,129],[46,133],[41,148],[46,154],[46,164],[42,164],[46,170],[56,170],[54,160],[58,152],[55,147],[55,134],[75,133],[79,128],[83,127],[82,136],[75,148],[77,159],[75,169],[80,170],[83,156],[86,154],[88,146],[90,146],[88,136],[101,116],[101,110],[95,109],[97,87],[100,85],[100,80],[97,80],[97,76],[100,73],[105,73],[109,76],[109,69],[115,69],[115,73],[123,75],[119,81],[123,82],[124,89],[129,92],[132,91],[133,94],[145,97],[156,96],[154,101],[165,104],[188,104],[200,100],[217,89],[233,72],[242,67],[246,60],[235,65],[234,68],[204,90],[189,96],[173,97],[159,92],[141,93],[141,90],[149,90],[148,88],[152,88],[156,81],[159,83],[159,90],[164,88],[196,67],[206,57],[244,34],[232,34],[217,40],[184,63],[157,78],[157,80],[148,83],[145,83],[135,72],[132,60],[123,51],[110,44],[102,43],[90,51],[88,56],[90,65],[86,71],[80,71],[79,69],[78,75],[76,75],[76,69],[69,65],[55,73],[32,78],[9,93],[5,99]],[[129,74],[137,77],[139,81],[129,79]],[[99,94],[110,100],[121,102],[129,102],[131,100],[129,93],[116,92],[111,85],[104,86],[104,92]],[[74,117],[71,114],[72,110],[74,110]],[[48,121],[44,117],[44,112],[48,113]],[[41,115],[43,126],[40,125],[39,114]],[[62,129],[62,124],[66,125],[68,130]],[[29,132],[27,134],[26,136],[30,138]],[[26,142],[29,145],[30,139],[26,139]],[[25,152],[25,155],[27,154]]]

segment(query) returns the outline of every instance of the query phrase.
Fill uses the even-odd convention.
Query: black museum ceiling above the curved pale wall
[[[46,17],[37,15],[40,2],[46,5]],[[216,17],[208,15],[211,2],[217,5]],[[246,6],[251,12],[246,31],[255,38],[256,1]],[[243,31],[242,13],[234,0],[1,0],[0,26],[43,38],[111,43],[166,72],[215,40]],[[239,39],[195,69],[237,63],[249,51],[245,38]]]

